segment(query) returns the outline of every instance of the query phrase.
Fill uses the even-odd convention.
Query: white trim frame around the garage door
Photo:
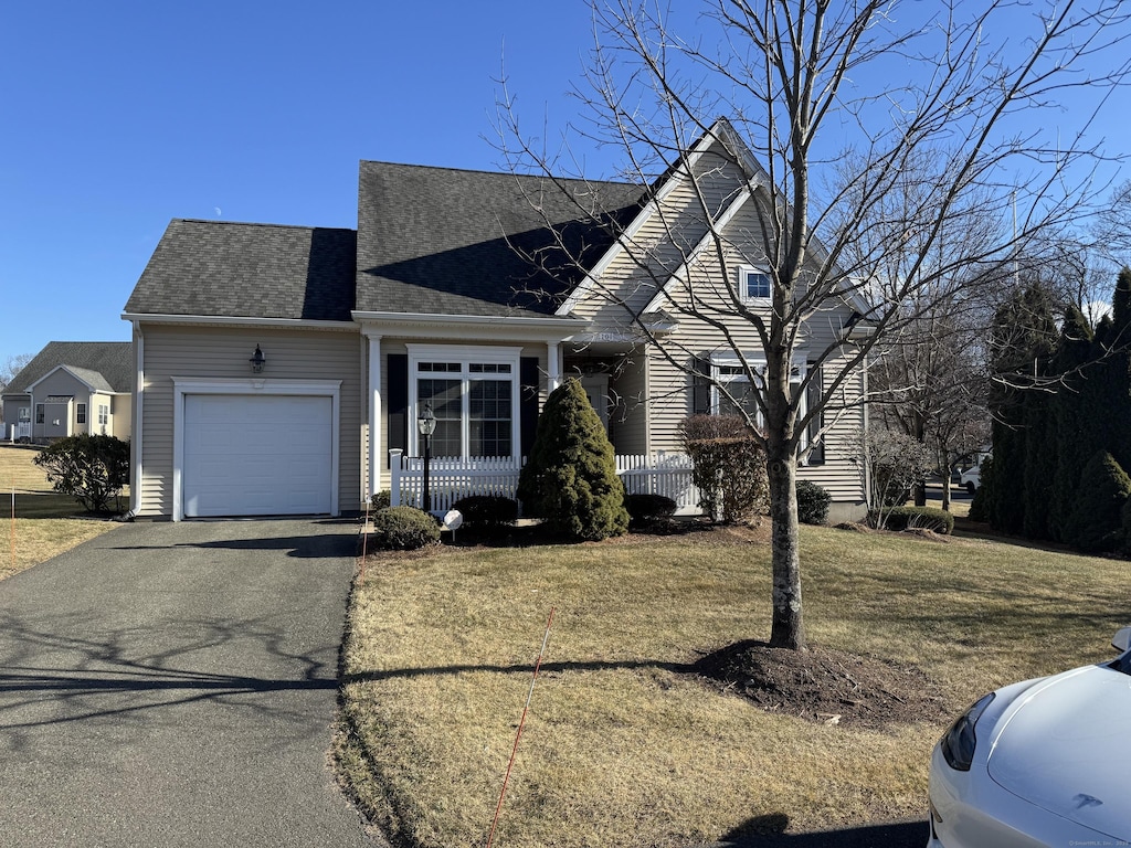
[[[173,520],[184,520],[184,401],[188,395],[304,395],[330,398],[330,514],[339,514],[340,380],[173,378]]]

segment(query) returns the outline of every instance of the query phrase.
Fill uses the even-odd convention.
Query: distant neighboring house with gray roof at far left
[[[129,341],[48,343],[5,389],[5,436],[36,443],[84,433],[129,439],[132,348]]]

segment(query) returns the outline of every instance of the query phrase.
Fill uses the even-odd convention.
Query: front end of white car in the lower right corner
[[[931,755],[927,848],[1131,843],[1131,628],[1112,646],[958,717]]]

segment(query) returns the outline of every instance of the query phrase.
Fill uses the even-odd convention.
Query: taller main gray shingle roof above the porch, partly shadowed
[[[607,218],[585,209],[613,210],[610,217],[623,226],[644,193],[627,183],[559,184],[576,204],[539,176],[362,162],[356,309],[552,314],[581,275],[553,249],[546,219],[592,265],[612,236],[602,226]],[[530,261],[535,256],[542,268]]]

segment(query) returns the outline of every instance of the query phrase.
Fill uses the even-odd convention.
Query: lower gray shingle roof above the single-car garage
[[[349,321],[353,230],[174,219],[126,311]]]

